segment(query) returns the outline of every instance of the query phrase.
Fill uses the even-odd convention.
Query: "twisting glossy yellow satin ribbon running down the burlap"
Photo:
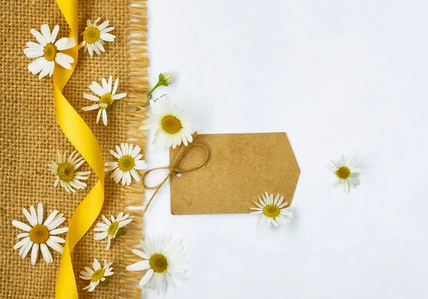
[[[77,19],[77,0],[56,0],[59,9],[70,26],[70,37],[76,39],[78,36],[78,19]],[[63,87],[68,82],[68,79],[73,74],[77,64],[78,49],[77,46],[64,53],[70,55],[74,59],[71,70],[56,67],[54,71],[54,103],[55,115],[58,125],[63,133],[73,146],[81,153],[83,158],[88,162],[93,169],[98,182],[95,187],[88,193],[86,198],[76,208],[68,225],[68,233],[66,243],[59,265],[58,275],[56,277],[56,298],[78,298],[76,279],[73,273],[73,265],[71,263],[71,250],[83,235],[91,228],[91,225],[96,221],[98,214],[103,207],[104,202],[104,163],[103,153],[90,128],[85,121],[78,115],[76,110],[68,103],[63,96]]]

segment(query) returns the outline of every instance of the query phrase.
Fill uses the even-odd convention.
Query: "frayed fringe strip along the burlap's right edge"
[[[127,61],[128,61],[128,100],[126,102],[126,141],[138,144],[146,148],[146,134],[138,128],[146,118],[146,108],[143,103],[147,101],[148,93],[148,56],[147,56],[147,6],[146,0],[128,0],[128,37],[127,37]],[[121,201],[124,206],[141,206],[144,188],[141,183],[133,183],[124,186],[121,192]],[[122,263],[131,265],[140,258],[132,253],[132,249],[139,244],[143,237],[143,211],[131,210],[128,213],[133,216],[126,228],[126,235],[121,240]],[[118,298],[141,298],[141,288],[138,281],[141,272],[126,271],[121,275],[121,295]]]

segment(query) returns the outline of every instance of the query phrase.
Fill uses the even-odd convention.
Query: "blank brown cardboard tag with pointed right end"
[[[281,193],[290,206],[300,169],[285,133],[201,134],[194,142],[205,144],[210,158],[195,171],[171,176],[173,215],[250,213],[265,191]],[[170,164],[180,149],[170,149]],[[203,159],[203,152],[190,150],[180,168]]]

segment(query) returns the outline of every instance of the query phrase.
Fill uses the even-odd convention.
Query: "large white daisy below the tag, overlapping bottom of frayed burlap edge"
[[[133,265],[128,265],[126,270],[147,270],[141,278],[139,285],[144,288],[158,289],[158,293],[164,293],[168,286],[177,288],[173,278],[187,280],[183,265],[189,263],[185,258],[181,239],[171,241],[171,236],[158,236],[156,243],[151,239],[141,240],[143,251],[133,249],[132,252],[143,258]]]

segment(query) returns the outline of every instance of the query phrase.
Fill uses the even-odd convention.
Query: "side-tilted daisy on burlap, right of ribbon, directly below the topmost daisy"
[[[91,111],[99,109],[98,115],[96,116],[96,123],[100,121],[100,117],[102,114],[104,126],[107,126],[107,109],[110,108],[113,101],[126,97],[126,93],[116,94],[119,85],[119,78],[116,78],[116,81],[114,81],[113,90],[111,89],[111,85],[113,83],[113,76],[108,77],[108,81],[106,80],[106,78],[101,78],[101,83],[103,84],[103,86],[98,84],[96,81],[93,81],[91,85],[89,85],[89,88],[91,89],[91,91],[96,93],[96,96],[93,96],[89,93],[83,93],[83,98],[87,98],[88,100],[97,103],[93,104],[92,106],[83,107],[82,110]]]

